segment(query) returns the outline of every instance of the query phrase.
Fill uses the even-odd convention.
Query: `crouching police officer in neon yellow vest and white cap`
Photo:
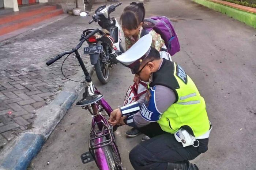
[[[204,99],[183,68],[161,59],[151,41],[145,35],[117,57],[148,82],[148,91],[143,102],[114,110],[109,122],[136,127],[150,137],[129,153],[135,170],[198,170],[189,160],[208,149],[211,124]]]

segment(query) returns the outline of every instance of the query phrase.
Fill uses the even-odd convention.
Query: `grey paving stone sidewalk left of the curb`
[[[64,57],[49,67],[45,63],[75,47],[82,31],[96,26],[87,24],[89,19],[68,16],[0,46],[0,150],[16,135],[32,128],[35,110],[49,104],[69,82],[60,69]],[[82,56],[90,64],[89,57]],[[63,65],[63,73],[71,79],[79,69],[72,55]]]

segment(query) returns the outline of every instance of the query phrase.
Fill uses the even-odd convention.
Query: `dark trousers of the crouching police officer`
[[[129,159],[135,170],[165,170],[167,162],[192,160],[208,149],[208,138],[198,139],[199,147],[183,147],[173,134],[163,131],[157,122],[139,130],[151,139],[140,142],[131,150]]]

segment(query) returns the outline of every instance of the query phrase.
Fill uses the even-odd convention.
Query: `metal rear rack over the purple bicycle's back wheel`
[[[99,130],[95,126],[101,127]],[[112,128],[113,129],[113,128]],[[103,141],[103,137],[106,137],[106,140]],[[103,121],[97,122],[91,128],[90,137],[89,137],[89,150],[98,149],[107,145],[110,145],[113,142],[112,132]]]

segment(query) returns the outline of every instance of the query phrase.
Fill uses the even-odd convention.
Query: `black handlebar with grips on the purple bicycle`
[[[62,54],[57,55],[56,57],[54,57],[53,59],[50,59],[48,62],[46,62],[47,66],[50,66],[52,63],[56,62],[57,60],[59,60],[61,57],[63,57],[66,54],[71,54],[73,52],[75,52],[75,50],[78,50],[82,44],[84,43],[84,41],[86,41],[90,36],[94,35],[95,33],[97,33],[99,31],[99,28],[94,29],[91,33],[89,33],[87,36],[83,37],[82,40],[80,41],[80,43],[73,48],[71,51],[65,51]]]

